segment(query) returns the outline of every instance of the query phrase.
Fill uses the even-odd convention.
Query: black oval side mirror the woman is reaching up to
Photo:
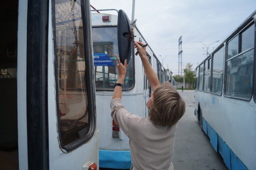
[[[131,58],[132,42],[130,41],[131,28],[130,20],[123,10],[118,11],[118,50],[120,61],[124,64],[124,60],[127,60],[127,64]]]

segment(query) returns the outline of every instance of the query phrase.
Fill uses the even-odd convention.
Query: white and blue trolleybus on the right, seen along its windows
[[[196,68],[195,115],[229,170],[256,170],[256,11]]]

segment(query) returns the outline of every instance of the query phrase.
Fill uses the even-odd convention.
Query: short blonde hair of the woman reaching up
[[[170,82],[164,82],[154,90],[149,118],[161,126],[172,126],[185,113],[186,104]]]

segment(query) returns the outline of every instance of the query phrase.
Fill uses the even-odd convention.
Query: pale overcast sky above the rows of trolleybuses
[[[90,0],[96,9],[122,9],[132,19],[132,0]],[[206,47],[222,42],[252,12],[256,0],[136,0],[134,18],[140,32],[164,67],[178,74],[178,39],[182,62],[194,68],[206,58]],[[116,14],[116,13],[113,13]],[[209,46],[209,52],[220,42]],[[203,50],[203,47],[204,50]],[[168,65],[167,65],[168,64]],[[182,66],[183,67],[183,66]]]

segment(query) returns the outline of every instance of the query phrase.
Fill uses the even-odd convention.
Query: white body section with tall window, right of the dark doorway
[[[60,167],[62,170],[87,170],[89,166],[96,169],[98,132],[90,2],[53,0],[51,16],[49,35],[51,32],[53,38],[48,41],[49,167],[50,170]],[[52,71],[54,74],[50,75]],[[50,108],[51,103],[56,107]]]

